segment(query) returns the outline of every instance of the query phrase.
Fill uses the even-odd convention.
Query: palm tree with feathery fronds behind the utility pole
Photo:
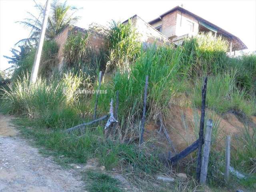
[[[22,39],[16,44],[37,44],[42,27],[44,7],[42,5],[36,5],[36,8],[39,11],[38,18],[28,12],[30,18],[26,18],[23,21],[18,21],[18,23],[22,24],[25,28],[30,28],[31,32],[28,38]],[[50,8],[45,39],[53,39],[66,27],[73,26],[80,19],[80,17],[74,16],[78,10],[80,10],[80,8],[67,5],[66,1],[61,3],[58,0],[54,0]]]

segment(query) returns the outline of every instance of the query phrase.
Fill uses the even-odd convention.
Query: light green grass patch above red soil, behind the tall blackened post
[[[201,106],[202,79],[194,85],[192,100],[195,106]],[[246,91],[236,87],[236,71],[209,76],[207,83],[206,106],[217,112],[235,112],[240,115],[254,114],[251,101],[246,98]]]

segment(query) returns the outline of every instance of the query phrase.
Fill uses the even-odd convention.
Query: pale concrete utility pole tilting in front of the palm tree
[[[34,60],[33,68],[32,68],[32,74],[31,74],[31,82],[32,83],[36,82],[36,78],[37,78],[37,74],[38,74],[40,58],[41,58],[41,54],[42,54],[42,48],[43,48],[43,44],[44,44],[44,35],[45,35],[47,22],[48,22],[48,14],[49,14],[48,8],[50,5],[50,2],[51,2],[51,0],[46,0],[46,6],[45,6],[45,10],[44,10],[44,20],[43,20],[40,38],[39,38],[39,42],[38,42],[38,47],[36,49],[36,56],[35,56],[35,60]]]

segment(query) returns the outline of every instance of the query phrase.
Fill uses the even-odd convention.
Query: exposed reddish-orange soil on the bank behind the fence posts
[[[198,113],[197,120],[196,113]],[[223,138],[225,138],[226,135],[239,136],[244,130],[244,124],[240,122],[235,114],[227,113],[220,116],[212,111],[208,111],[208,116],[213,116],[214,119],[218,119],[219,121],[216,139],[219,141],[218,143],[220,145],[217,146],[217,148],[221,148],[223,146]],[[192,108],[184,108],[176,105],[171,106],[170,116],[165,120],[166,130],[178,151],[183,150],[196,140],[198,133],[195,130],[195,124],[197,123],[199,127],[199,118],[200,110],[198,109],[193,110]],[[256,124],[256,117],[251,117],[251,120]],[[159,127],[154,122],[148,122],[145,129],[145,140],[147,140],[150,137],[156,137],[156,131],[159,130]],[[162,142],[163,139],[164,137],[162,136]]]

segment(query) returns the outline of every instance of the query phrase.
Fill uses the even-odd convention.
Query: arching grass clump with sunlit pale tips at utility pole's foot
[[[80,79],[73,74],[64,74],[62,79],[51,82],[38,78],[34,84],[27,75],[9,85],[9,90],[4,90],[4,109],[8,113],[38,118],[46,127],[66,126],[65,121],[62,124],[63,118],[71,119],[70,124],[72,118],[77,119],[76,111],[71,107],[77,99],[79,85]]]

